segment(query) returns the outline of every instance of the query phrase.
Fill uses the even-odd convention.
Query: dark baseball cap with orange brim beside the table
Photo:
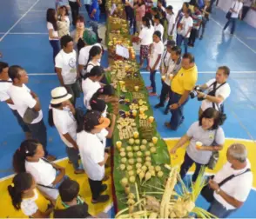
[[[96,110],[87,111],[84,116],[84,130],[91,131],[92,129],[104,129],[110,125],[111,121],[108,118],[101,116],[101,113]]]

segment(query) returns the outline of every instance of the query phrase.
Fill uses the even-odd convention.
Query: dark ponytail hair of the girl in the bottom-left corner
[[[14,176],[12,183],[7,187],[12,205],[15,209],[20,209],[23,192],[31,188],[33,178],[30,173],[18,173]]]

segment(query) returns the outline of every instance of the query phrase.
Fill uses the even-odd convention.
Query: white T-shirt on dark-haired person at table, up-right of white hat
[[[94,95],[96,91],[100,88],[101,88],[100,83],[91,81],[89,77],[83,80],[82,90],[84,92],[84,104],[86,107],[89,106],[91,96]]]

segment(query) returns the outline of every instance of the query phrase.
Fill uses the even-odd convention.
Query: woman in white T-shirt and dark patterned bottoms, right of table
[[[147,68],[149,68],[149,49],[152,44],[154,28],[148,17],[142,18],[142,30],[140,30],[138,38],[140,43],[140,68],[143,66],[144,60],[147,61]]]

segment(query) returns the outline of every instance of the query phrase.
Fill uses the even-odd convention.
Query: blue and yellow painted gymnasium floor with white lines
[[[47,123],[47,110],[51,99],[50,92],[58,86],[57,76],[53,73],[52,50],[45,23],[45,13],[50,7],[54,7],[53,0],[0,1],[0,51],[3,53],[2,60],[10,63],[10,65],[19,64],[30,74],[28,86],[37,93],[41,100],[45,123]],[[256,201],[256,127],[254,125],[256,123],[256,98],[254,96],[256,93],[256,29],[246,23],[239,22],[236,36],[231,37],[228,31],[225,34],[222,33],[225,22],[225,13],[218,9],[214,10],[212,19],[205,30],[205,38],[202,41],[197,41],[195,48],[189,51],[196,57],[199,68],[199,83],[205,83],[214,77],[219,65],[225,64],[232,70],[229,79],[232,94],[225,104],[228,116],[224,124],[226,148],[234,142],[245,143],[249,150],[249,159],[254,174],[254,189],[252,189],[244,206],[232,217],[248,218],[256,216],[256,209],[253,208]],[[105,53],[103,58],[104,66],[107,66],[106,55]],[[142,73],[145,83],[149,83],[148,72],[142,70]],[[157,80],[159,93],[161,89],[159,75]],[[155,105],[158,103],[158,98],[151,97],[150,102]],[[78,101],[77,104],[82,105],[82,100]],[[177,131],[166,130],[163,124],[170,119],[170,116],[164,116],[163,110],[155,110],[154,115],[158,121],[158,131],[161,136],[166,138],[169,147],[172,147],[177,139],[185,134],[188,127],[197,120],[198,109],[199,102],[197,100],[191,100],[187,103],[185,106],[185,123]],[[0,115],[0,177],[2,177],[0,179],[0,212],[1,217],[3,217],[3,212],[5,217],[14,216],[7,212],[8,207],[2,205],[2,201],[8,198],[6,186],[10,183],[9,176],[13,174],[11,156],[21,141],[24,140],[24,134],[10,114],[10,110],[3,103],[0,104]],[[56,129],[48,127],[48,140],[51,154],[56,155],[58,159],[63,159],[65,157],[64,145]],[[172,164],[181,163],[183,155],[184,149],[179,151],[177,158],[172,157]],[[216,170],[225,162],[224,149]],[[68,172],[71,172],[71,166],[65,160],[61,163],[68,166]],[[84,185],[83,193],[88,191],[84,178],[79,176],[77,180]],[[89,202],[90,196],[87,196],[86,200]],[[207,204],[201,197],[199,197],[197,204],[207,208]],[[91,211],[98,213],[97,208],[99,211],[105,209],[105,212],[111,209],[108,206],[94,206],[91,207]]]

